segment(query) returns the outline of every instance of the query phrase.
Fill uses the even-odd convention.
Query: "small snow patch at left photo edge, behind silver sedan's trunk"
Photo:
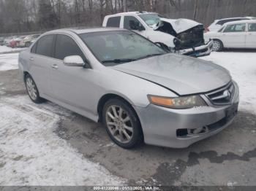
[[[18,53],[0,54],[0,71],[18,69]]]

